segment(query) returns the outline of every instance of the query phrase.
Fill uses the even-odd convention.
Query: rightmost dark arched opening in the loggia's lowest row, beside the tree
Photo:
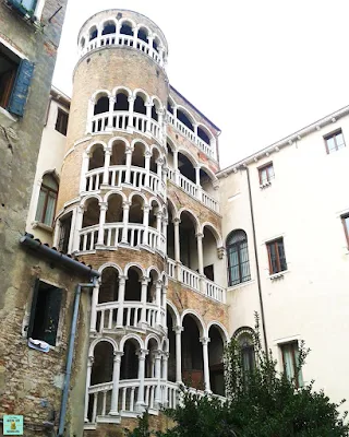
[[[208,331],[208,365],[210,390],[215,394],[225,395],[225,374],[224,374],[224,342],[220,331],[212,326]]]

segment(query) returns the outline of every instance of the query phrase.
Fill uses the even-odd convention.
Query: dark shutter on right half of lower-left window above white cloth
[[[43,339],[48,344],[55,346],[57,338],[57,329],[59,323],[59,315],[62,302],[62,288],[50,288],[47,291],[47,306],[45,315],[45,338]]]

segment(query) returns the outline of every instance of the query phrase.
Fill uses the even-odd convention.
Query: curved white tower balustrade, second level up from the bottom
[[[144,320],[142,320],[142,309]],[[120,315],[119,312],[122,311]],[[125,328],[140,328],[141,323],[146,323],[149,328],[158,329],[158,326],[165,323],[165,310],[156,304],[146,303],[145,308],[141,302],[124,302],[120,305],[118,302],[98,304],[96,306],[97,322],[92,327],[97,332],[110,332],[117,329],[118,316]],[[120,327],[119,327],[120,328]]]

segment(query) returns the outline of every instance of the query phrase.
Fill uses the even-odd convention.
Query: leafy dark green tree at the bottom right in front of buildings
[[[296,383],[276,370],[272,353],[260,341],[258,318],[254,336],[255,367],[244,370],[240,344],[231,340],[225,353],[227,401],[201,397],[183,389],[176,410],[165,410],[176,425],[158,437],[348,437],[342,404],[332,403],[313,381],[297,389]],[[310,351],[300,344],[298,371]],[[146,434],[134,434],[148,436]]]

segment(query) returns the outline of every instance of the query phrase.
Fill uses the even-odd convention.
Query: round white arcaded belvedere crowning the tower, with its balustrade
[[[79,37],[79,57],[108,46],[125,46],[143,51],[165,68],[168,46],[163,31],[148,17],[124,9],[109,9],[91,16]]]

